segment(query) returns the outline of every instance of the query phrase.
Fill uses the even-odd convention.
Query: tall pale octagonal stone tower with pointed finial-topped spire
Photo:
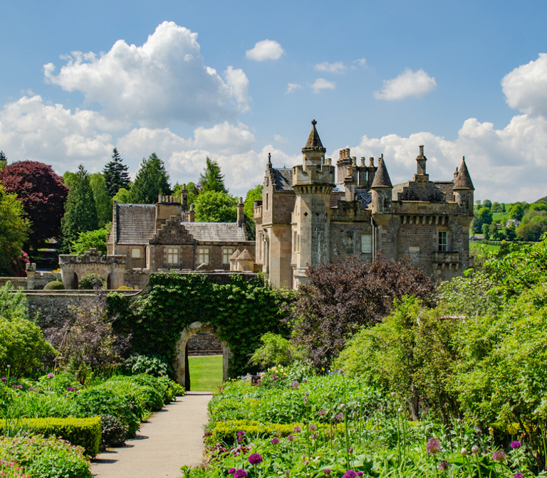
[[[330,193],[335,187],[335,168],[325,161],[326,149],[316,129],[316,120],[302,164],[293,167],[296,202],[292,214],[293,287],[306,283],[306,269],[330,262]]]

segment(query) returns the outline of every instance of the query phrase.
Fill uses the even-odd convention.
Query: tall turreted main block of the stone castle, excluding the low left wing
[[[269,156],[262,201],[254,202],[256,263],[278,287],[298,288],[306,270],[357,255],[371,262],[382,251],[410,259],[433,280],[449,280],[472,264],[469,224],[474,187],[465,159],[452,181],[429,181],[424,147],[412,181],[392,185],[385,161],[340,151],[335,166],[312,122],[302,164],[276,169]]]

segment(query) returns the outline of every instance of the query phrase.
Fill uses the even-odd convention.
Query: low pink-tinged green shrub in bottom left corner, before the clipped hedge
[[[1,462],[24,467],[24,474],[6,474],[9,477],[91,478],[83,448],[54,436],[1,437]]]

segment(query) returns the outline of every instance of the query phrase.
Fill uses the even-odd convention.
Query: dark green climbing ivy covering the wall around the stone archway
[[[281,319],[293,292],[266,285],[260,277],[232,275],[229,284],[215,284],[203,274],[150,276],[151,290],[133,304],[123,295],[108,296],[108,311],[118,334],[131,334],[132,351],[160,354],[174,360],[174,347],[184,327],[201,322],[218,330],[234,357],[229,376],[252,373],[249,358],[266,332],[287,335]]]

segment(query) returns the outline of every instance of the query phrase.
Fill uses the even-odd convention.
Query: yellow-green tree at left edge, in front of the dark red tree
[[[21,201],[0,184],[0,275],[14,275],[27,238],[28,220]]]

